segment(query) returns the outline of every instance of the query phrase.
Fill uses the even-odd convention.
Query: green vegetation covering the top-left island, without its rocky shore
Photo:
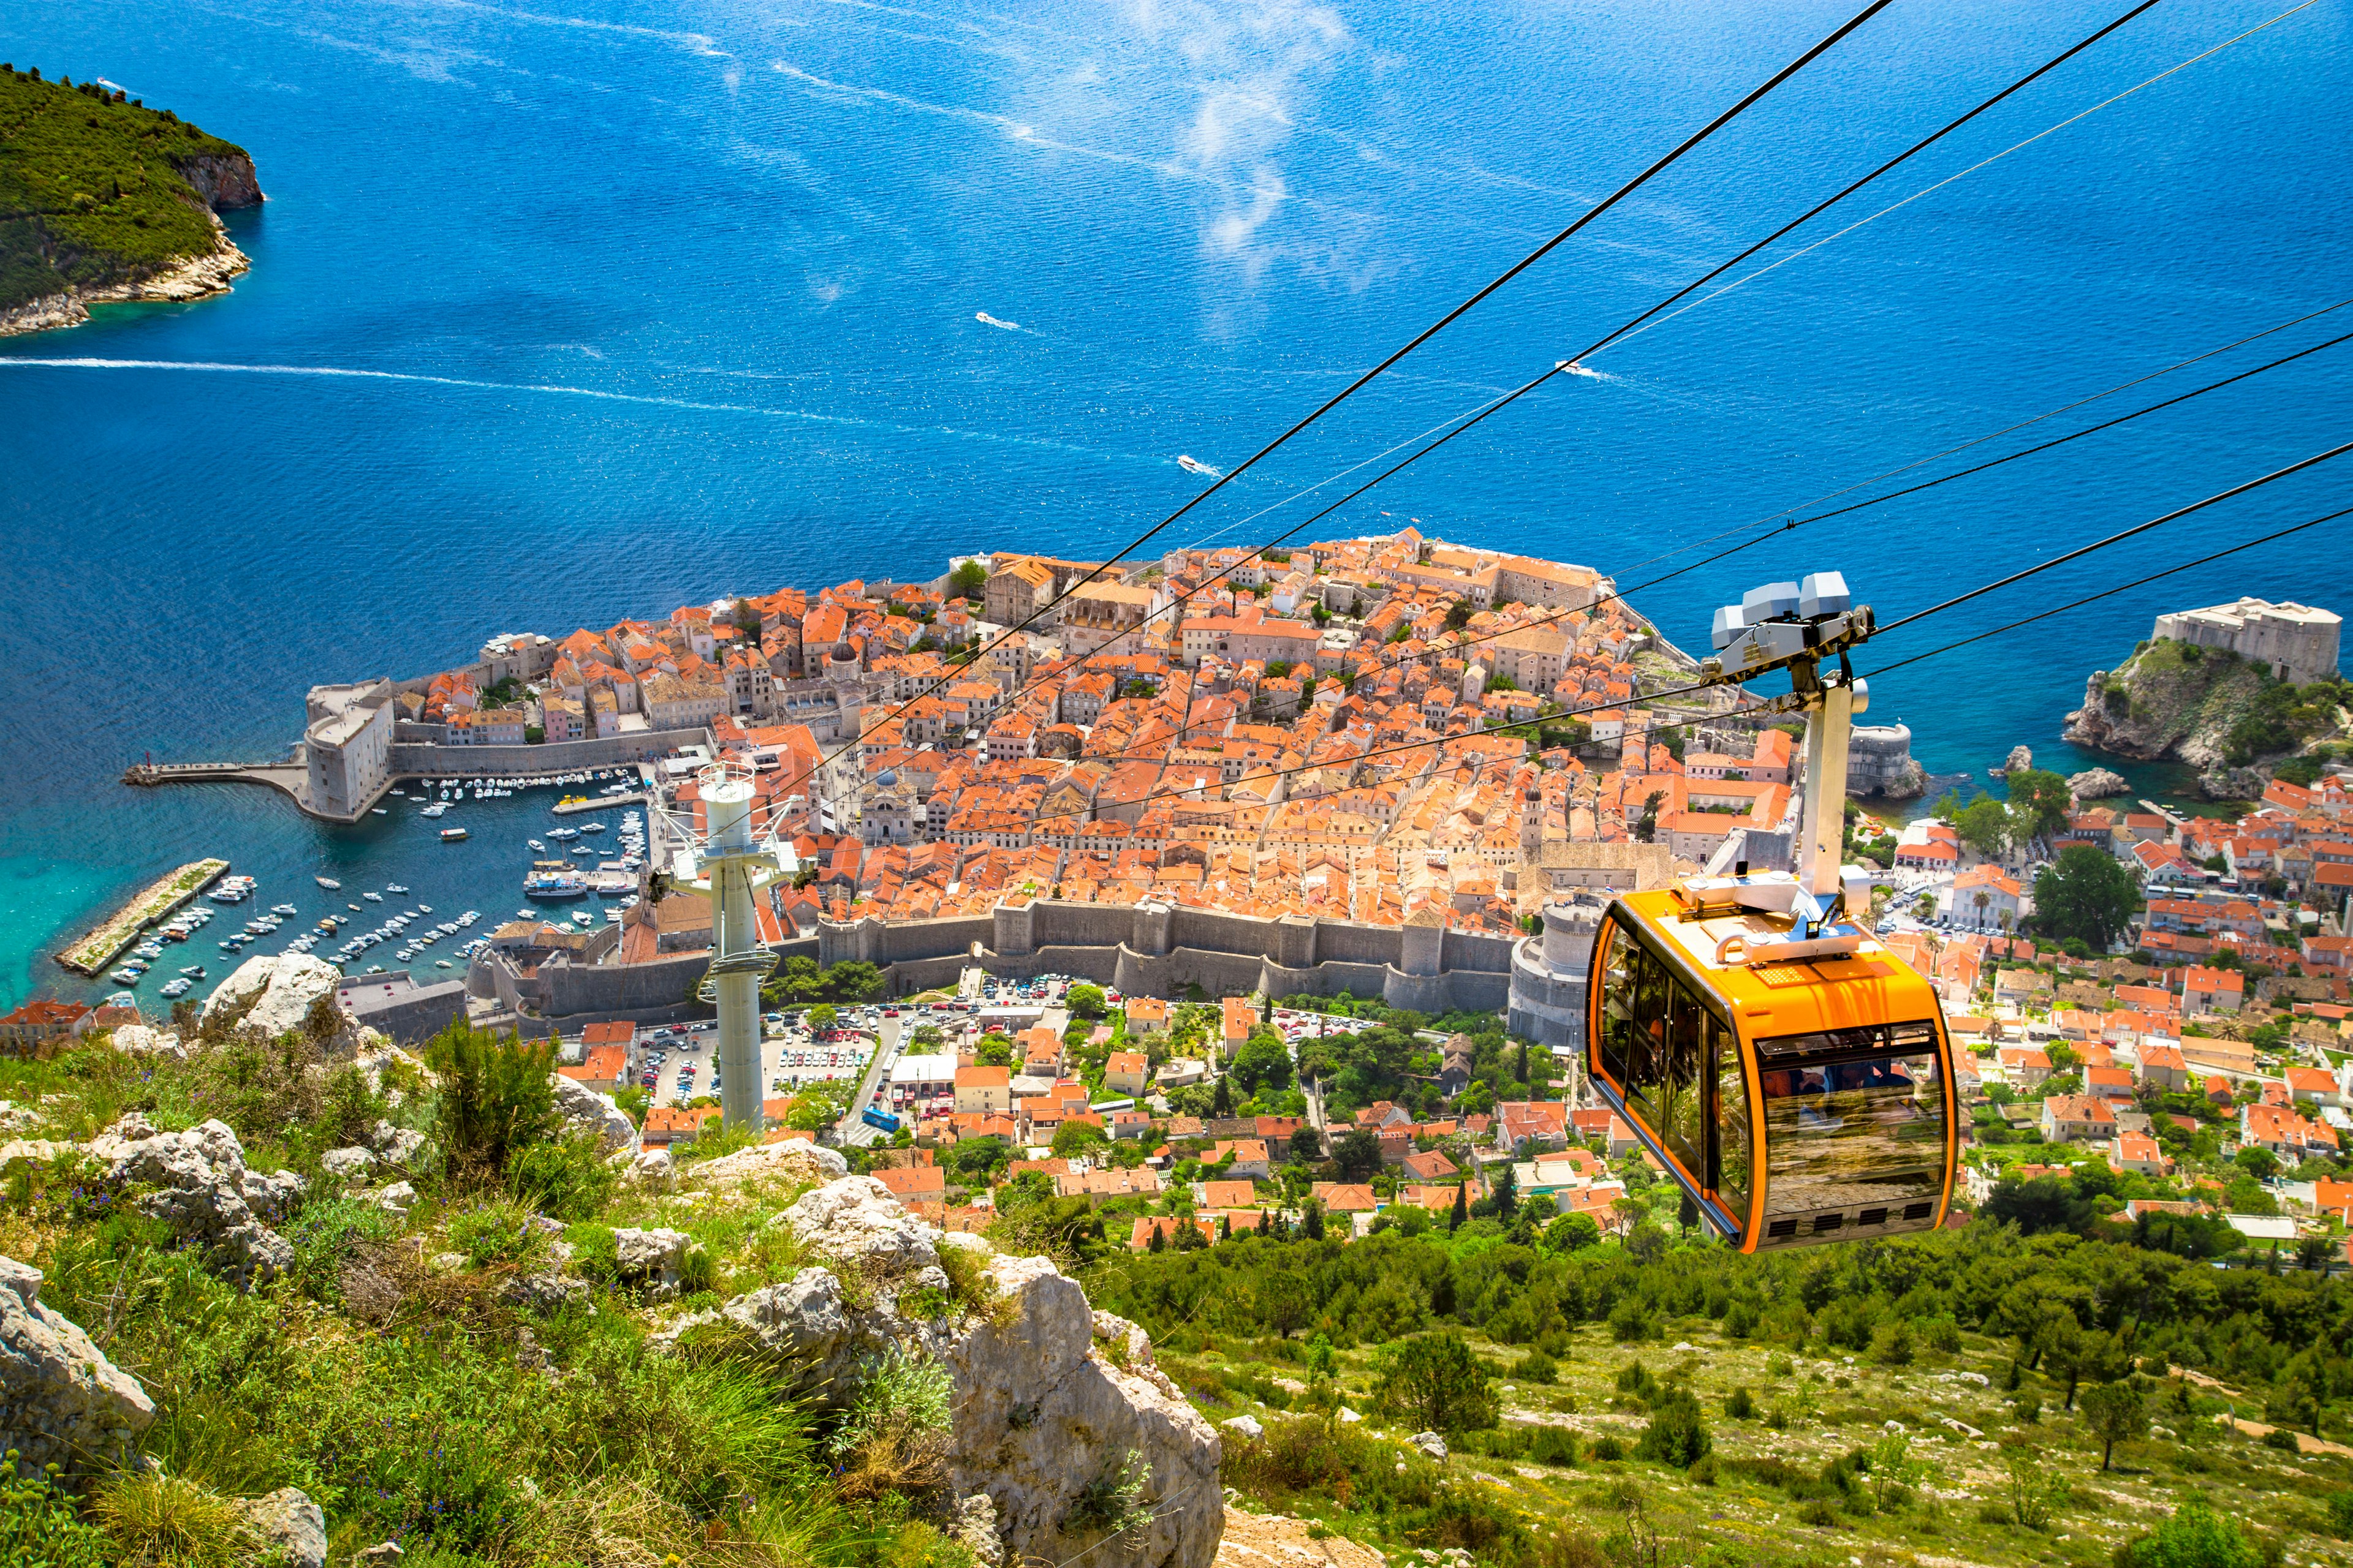
[[[186,179],[202,158],[245,150],[96,85],[0,68],[0,310],[212,252]]]

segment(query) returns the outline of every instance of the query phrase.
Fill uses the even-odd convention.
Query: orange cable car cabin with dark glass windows
[[[1788,919],[1704,898],[1609,903],[1593,1088],[1744,1253],[1944,1225],[1960,1131],[1937,992],[1871,940],[1751,961]]]

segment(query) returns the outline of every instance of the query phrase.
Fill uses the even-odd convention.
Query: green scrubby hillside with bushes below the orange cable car
[[[1247,1507],[1393,1559],[2348,1561],[2337,1279],[1991,1222],[1781,1258],[1645,1232],[1235,1239],[1089,1293],[1205,1415],[1261,1422],[1226,1429]]]

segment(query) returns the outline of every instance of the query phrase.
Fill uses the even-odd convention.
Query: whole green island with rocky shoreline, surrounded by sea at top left
[[[216,214],[259,202],[245,148],[120,87],[0,63],[0,336],[226,292],[249,263]]]

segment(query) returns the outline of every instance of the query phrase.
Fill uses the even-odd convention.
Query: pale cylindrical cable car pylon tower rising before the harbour
[[[774,837],[755,839],[751,823],[753,771],[739,762],[696,769],[704,830],[678,823],[687,849],[673,863],[673,886],[711,898],[711,969],[696,997],[720,1011],[720,1121],[727,1131],[760,1131],[760,980],[776,954],[760,943],[753,896],[791,877],[798,860]]]

